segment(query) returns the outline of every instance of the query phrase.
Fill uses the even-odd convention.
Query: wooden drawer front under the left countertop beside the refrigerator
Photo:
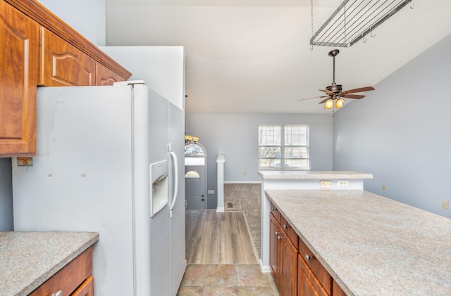
[[[91,274],[92,247],[89,247],[89,249],[82,252],[77,258],[73,259],[63,269],[40,285],[29,296],[49,296],[58,291],[62,291],[63,296],[68,296]],[[93,286],[94,282],[91,285]]]

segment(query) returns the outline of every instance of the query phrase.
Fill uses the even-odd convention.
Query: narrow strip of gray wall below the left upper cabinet
[[[0,231],[13,231],[11,158],[0,158]]]

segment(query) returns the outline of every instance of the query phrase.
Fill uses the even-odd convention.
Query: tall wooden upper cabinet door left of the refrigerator
[[[0,1],[0,157],[34,155],[39,25]]]

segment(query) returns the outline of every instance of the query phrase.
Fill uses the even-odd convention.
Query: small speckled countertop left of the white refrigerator
[[[0,296],[28,295],[97,240],[93,232],[0,232]]]

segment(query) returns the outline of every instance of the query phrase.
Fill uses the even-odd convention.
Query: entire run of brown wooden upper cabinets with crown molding
[[[0,157],[36,153],[37,86],[111,85],[131,73],[34,0],[0,0]]]

